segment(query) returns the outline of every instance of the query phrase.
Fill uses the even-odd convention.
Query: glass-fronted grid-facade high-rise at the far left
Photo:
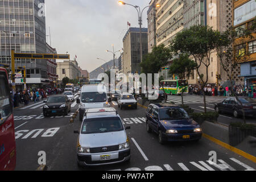
[[[0,1],[0,63],[11,65],[11,49],[18,53],[46,53],[46,17],[42,5],[44,0]],[[24,66],[28,87],[49,84],[46,60],[15,60],[15,68]],[[20,79],[16,83],[21,84]]]

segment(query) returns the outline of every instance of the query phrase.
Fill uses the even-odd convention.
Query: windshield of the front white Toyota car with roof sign
[[[82,134],[108,133],[122,131],[123,125],[119,117],[85,119]]]

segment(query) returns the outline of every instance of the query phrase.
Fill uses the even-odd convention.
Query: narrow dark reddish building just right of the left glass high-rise
[[[57,51],[55,48],[52,48],[51,46],[49,46],[49,44],[46,43],[46,53],[57,54]],[[47,75],[48,75],[48,80],[49,80],[51,86],[55,86],[55,83],[58,80],[58,75],[57,75],[56,69],[57,69],[56,59],[48,59],[47,60]]]

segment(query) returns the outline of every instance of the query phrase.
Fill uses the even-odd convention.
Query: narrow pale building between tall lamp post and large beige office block
[[[156,7],[153,6],[156,0],[151,0],[147,10],[147,34],[148,34],[148,52],[156,46]]]

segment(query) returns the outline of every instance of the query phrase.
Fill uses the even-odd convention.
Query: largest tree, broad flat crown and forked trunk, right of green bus
[[[197,75],[199,75],[199,84],[204,88],[208,83],[208,69],[210,65],[210,56],[216,51],[217,37],[220,32],[213,30],[208,26],[193,26],[183,30],[175,36],[170,44],[171,51],[175,55],[180,53],[188,54],[196,63]],[[205,71],[204,75],[202,72]],[[207,104],[204,95],[204,111],[207,113]]]

